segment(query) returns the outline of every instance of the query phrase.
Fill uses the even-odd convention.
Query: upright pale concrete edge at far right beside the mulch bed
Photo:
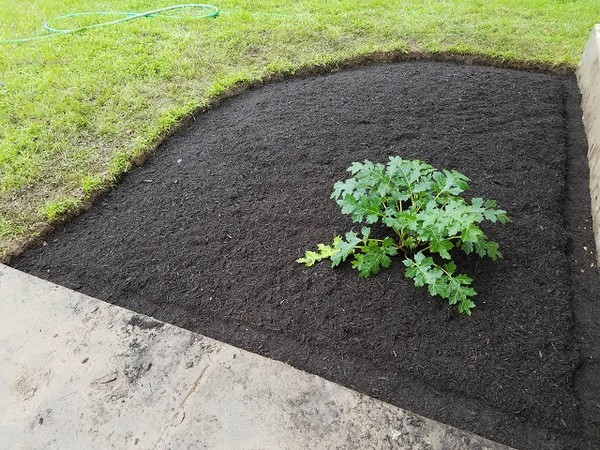
[[[582,96],[583,124],[588,141],[592,219],[600,263],[600,24],[592,28],[577,69],[577,82]]]

